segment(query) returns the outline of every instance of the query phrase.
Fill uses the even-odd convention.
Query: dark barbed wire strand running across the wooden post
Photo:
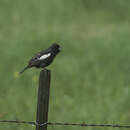
[[[18,121],[18,120],[0,120],[0,123],[29,124],[33,126],[58,125],[58,126],[81,126],[81,127],[130,128],[130,125],[119,125],[119,124],[86,124],[86,123],[62,123],[62,122],[45,122],[43,124],[39,124],[34,121]]]

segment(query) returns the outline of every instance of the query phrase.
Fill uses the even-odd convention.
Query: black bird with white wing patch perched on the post
[[[42,50],[35,54],[28,62],[28,65],[20,72],[22,74],[25,70],[35,67],[35,68],[45,68],[49,66],[55,56],[61,51],[60,45],[53,43],[48,49]]]

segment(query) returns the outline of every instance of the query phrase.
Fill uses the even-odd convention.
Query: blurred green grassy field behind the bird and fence
[[[130,125],[129,5],[128,0],[1,0],[0,120],[35,121],[40,70],[19,71],[57,42],[62,53],[48,67],[49,121]],[[35,127],[1,124],[5,129]],[[103,128],[48,127],[66,129]]]

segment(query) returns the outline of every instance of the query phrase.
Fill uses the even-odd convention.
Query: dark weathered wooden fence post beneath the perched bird
[[[43,124],[48,122],[50,70],[44,69],[40,72],[36,122]],[[47,125],[36,126],[36,130],[47,130]]]

